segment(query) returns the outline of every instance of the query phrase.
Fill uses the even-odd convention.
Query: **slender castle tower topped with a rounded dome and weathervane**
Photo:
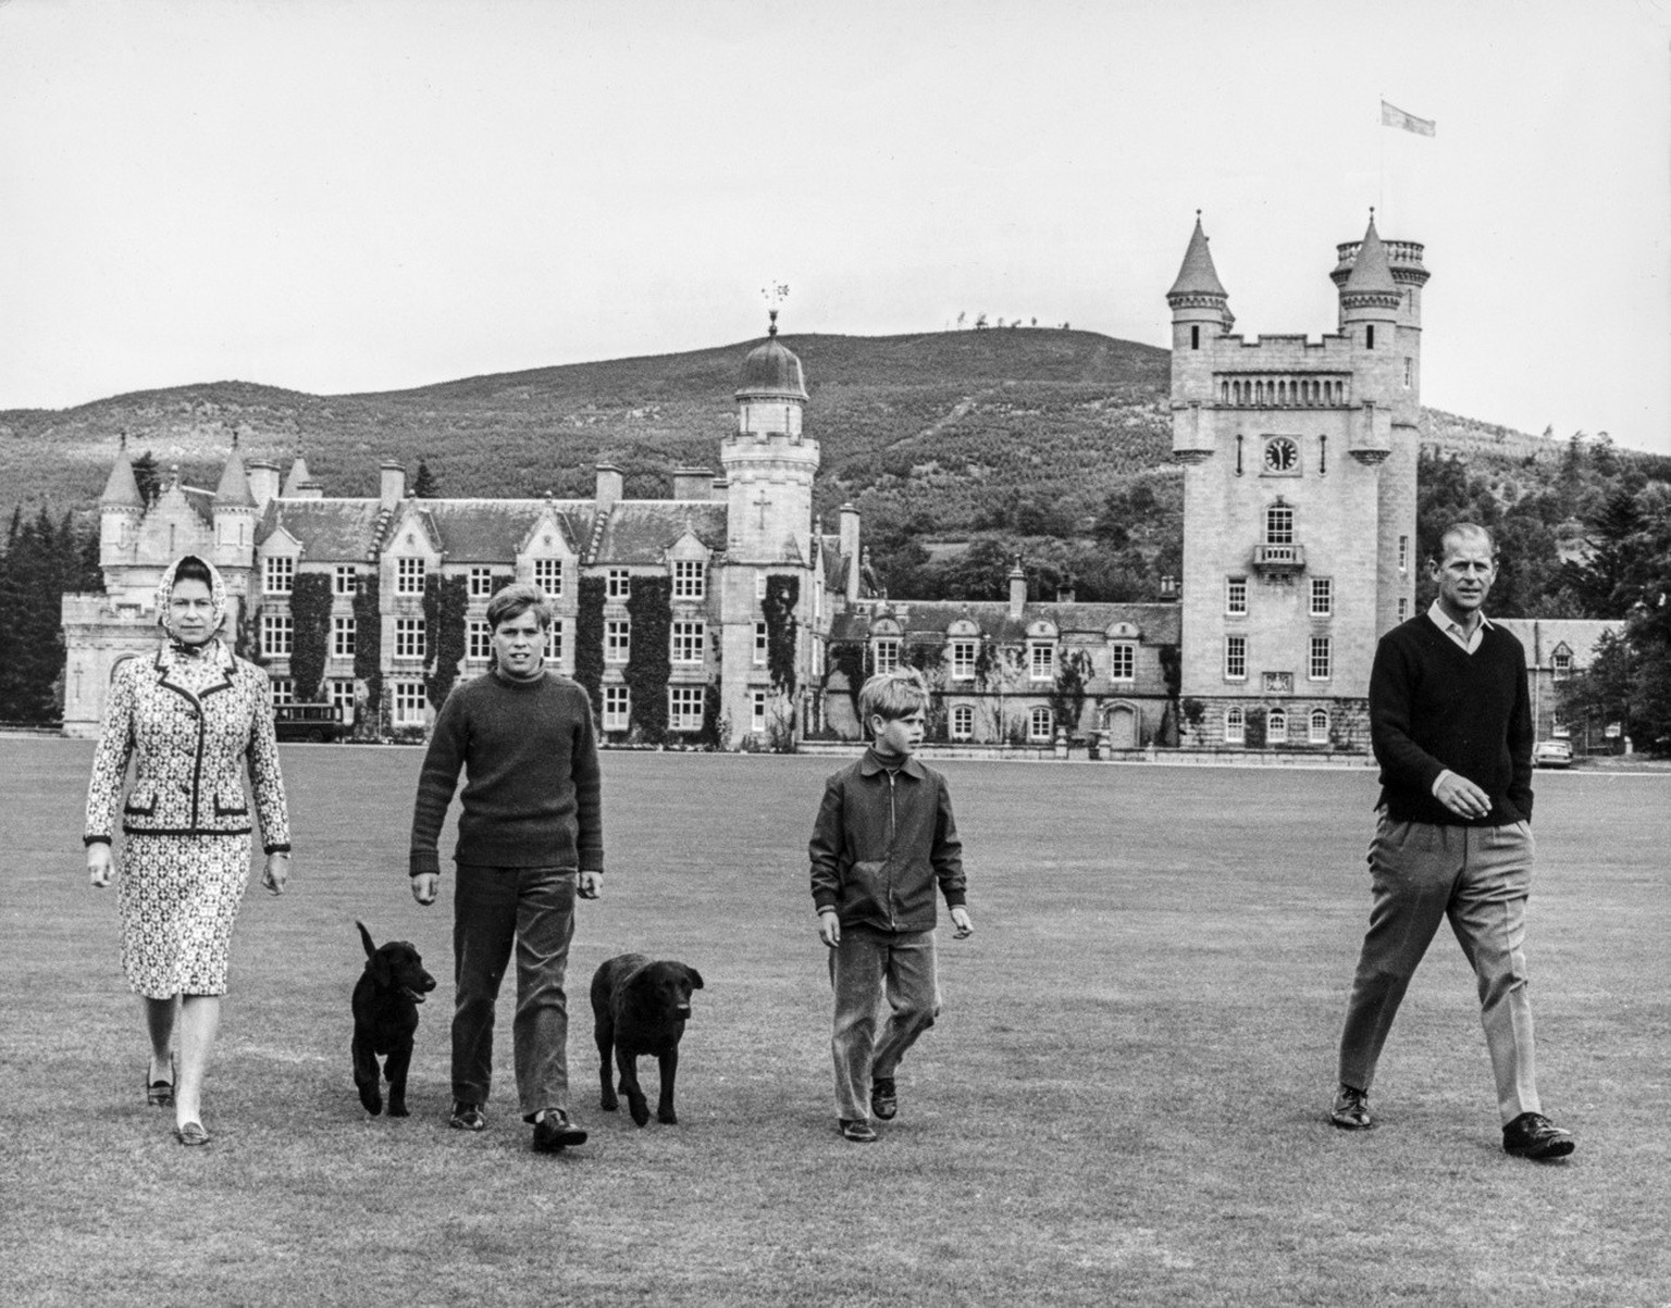
[[[819,443],[802,434],[807,388],[800,359],[777,339],[772,311],[764,344],[744,359],[737,384],[737,429],[720,446],[727,494],[727,550],[720,591],[722,668],[720,712],[732,723],[734,743],[760,720],[765,697],[769,730],[805,723],[809,638],[812,615],[812,478]],[[797,586],[797,685],[794,697],[772,683],[757,660],[757,636],[767,621],[764,596],[774,578],[792,576]]]

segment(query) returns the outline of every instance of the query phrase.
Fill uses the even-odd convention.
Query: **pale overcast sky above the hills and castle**
[[[0,0],[0,408],[695,349],[774,282],[1165,346],[1196,209],[1315,336],[1370,205],[1427,404],[1671,453],[1671,0]]]

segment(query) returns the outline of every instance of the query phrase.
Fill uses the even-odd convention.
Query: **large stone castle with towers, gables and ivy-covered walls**
[[[1173,453],[1185,468],[1181,598],[1006,601],[886,596],[859,515],[825,535],[800,361],[742,361],[720,476],[673,471],[667,499],[416,498],[384,463],[374,498],[328,498],[297,458],[234,448],[211,493],[145,504],[127,451],[100,498],[104,595],[63,600],[63,728],[92,735],[117,662],[155,640],[152,591],[196,551],[226,575],[244,653],[276,703],[328,700],[368,737],[421,735],[456,677],[488,667],[486,601],[511,580],[551,596],[550,662],[593,693],[612,742],[727,748],[856,738],[871,672],[919,667],[931,737],[1048,747],[1360,752],[1375,640],[1414,601],[1422,247],[1374,215],[1338,247],[1338,331],[1232,334],[1196,215],[1173,317]]]

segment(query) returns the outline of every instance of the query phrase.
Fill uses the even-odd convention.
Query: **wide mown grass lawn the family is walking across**
[[[90,757],[0,740],[3,1303],[1671,1303],[1671,777],[1539,773],[1541,1084],[1579,1138],[1539,1166],[1499,1148],[1449,934],[1380,1126],[1327,1123],[1369,770],[946,763],[976,935],[942,932],[946,1012],[856,1146],[805,874],[830,760],[610,753],[570,972],[592,1143],[548,1158],[508,997],[490,1129],[446,1129],[451,882],[424,910],[404,867],[419,752],[346,747],[286,747],[292,890],[246,900],[214,1143],[179,1148],[142,1103],[114,894],[82,870]],[[406,1121],[354,1098],[356,917],[443,979]],[[628,949],[707,979],[677,1128],[597,1108],[585,991]]]

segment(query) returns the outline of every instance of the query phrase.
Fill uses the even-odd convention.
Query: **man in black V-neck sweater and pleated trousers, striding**
[[[1496,580],[1496,550],[1482,526],[1447,528],[1430,568],[1439,598],[1382,636],[1370,672],[1380,820],[1369,850],[1369,934],[1347,1002],[1330,1119],[1348,1131],[1370,1126],[1380,1049],[1410,976],[1449,917],[1479,982],[1502,1148],[1564,1158],[1572,1136],[1537,1101],[1521,952],[1532,885],[1526,651],[1482,611]]]

